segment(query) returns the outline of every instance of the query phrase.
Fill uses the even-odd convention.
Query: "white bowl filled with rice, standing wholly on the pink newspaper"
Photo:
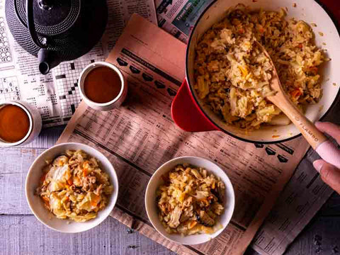
[[[145,192],[150,222],[167,239],[201,244],[217,237],[234,212],[234,190],[220,166],[178,157],[157,169]]]

